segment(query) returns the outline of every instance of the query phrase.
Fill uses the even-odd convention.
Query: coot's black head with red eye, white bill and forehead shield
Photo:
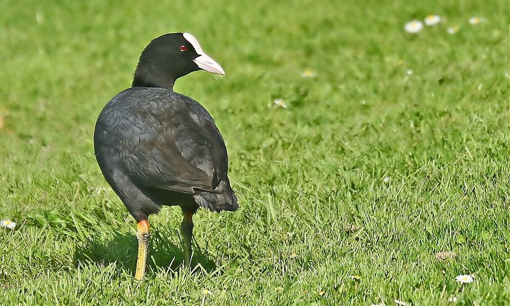
[[[135,70],[133,87],[171,89],[175,80],[197,70],[225,74],[223,68],[203,52],[193,35],[165,34],[153,39],[143,50]]]

